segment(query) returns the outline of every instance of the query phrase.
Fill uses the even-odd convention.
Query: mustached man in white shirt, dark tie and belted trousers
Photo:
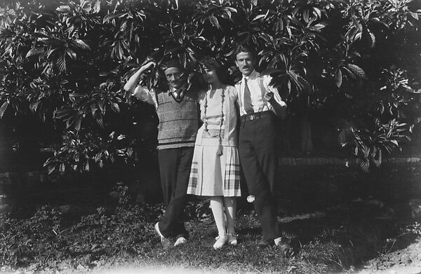
[[[281,100],[278,90],[269,85],[272,78],[255,71],[253,48],[240,45],[235,57],[243,76],[236,83],[241,116],[239,156],[248,191],[255,197],[253,205],[262,224],[262,240],[258,247],[276,245],[282,252],[290,252],[288,242],[281,238],[274,193],[279,164],[274,116],[286,116],[286,103]]]

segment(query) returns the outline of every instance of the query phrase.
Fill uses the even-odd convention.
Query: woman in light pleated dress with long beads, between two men
[[[187,194],[208,196],[218,237],[214,249],[236,245],[236,197],[241,196],[236,89],[222,82],[227,71],[213,59],[203,66],[208,90],[199,95],[201,120]],[[226,220],[226,221],[225,221]]]

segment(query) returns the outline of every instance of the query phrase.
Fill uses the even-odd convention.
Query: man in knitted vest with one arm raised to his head
[[[185,244],[189,236],[183,212],[199,128],[198,93],[196,90],[186,90],[187,81],[177,60],[170,60],[163,67],[168,90],[149,90],[139,85],[142,73],[155,65],[154,61],[143,65],[129,78],[124,89],[138,99],[153,104],[159,117],[157,149],[166,212],[155,224],[155,230],[163,247],[169,247],[170,238],[175,237],[174,246],[178,246]]]

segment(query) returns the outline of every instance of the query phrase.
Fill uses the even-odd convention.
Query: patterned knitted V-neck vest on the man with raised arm
[[[199,128],[199,107],[196,93],[185,93],[181,102],[176,102],[170,93],[156,94],[159,117],[158,149],[177,149],[194,146]]]

